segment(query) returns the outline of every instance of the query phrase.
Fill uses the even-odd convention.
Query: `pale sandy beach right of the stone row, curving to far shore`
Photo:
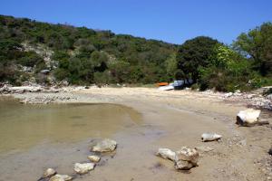
[[[253,181],[267,180],[272,175],[272,165],[269,165],[272,157],[267,154],[272,143],[271,116],[261,114],[261,119],[270,122],[267,126],[242,128],[235,124],[238,111],[247,109],[248,100],[254,99],[248,94],[227,97],[224,93],[211,91],[74,87],[5,95],[22,103],[113,103],[139,111],[144,124],[116,136],[121,144],[118,155],[107,167],[94,170],[93,179],[101,179],[103,172],[112,180],[161,181]],[[199,136],[206,131],[222,134],[222,141],[202,143]],[[131,144],[131,140],[137,140],[137,144]],[[190,174],[179,173],[169,161],[154,156],[157,148],[177,150],[181,146],[208,146],[214,150],[201,152],[199,167],[192,169]],[[161,167],[154,166],[158,163]],[[112,167],[117,171],[112,171]],[[80,180],[89,179],[90,176],[83,176]]]

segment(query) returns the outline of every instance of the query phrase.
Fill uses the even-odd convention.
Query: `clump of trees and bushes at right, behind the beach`
[[[230,46],[209,37],[181,44],[178,72],[195,81],[193,88],[252,90],[272,84],[272,24],[241,33]]]

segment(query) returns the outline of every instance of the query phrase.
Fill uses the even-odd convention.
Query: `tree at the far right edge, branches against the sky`
[[[248,33],[241,33],[234,48],[253,59],[255,69],[263,76],[272,75],[272,24],[265,23]]]

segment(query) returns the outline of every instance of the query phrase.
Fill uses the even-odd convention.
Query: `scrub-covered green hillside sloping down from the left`
[[[22,43],[53,50],[57,68],[46,67]],[[177,45],[111,31],[94,31],[66,24],[45,24],[26,18],[0,16],[0,81],[20,83],[25,73],[17,65],[52,71],[57,81],[73,84],[153,83],[170,81],[166,60]]]

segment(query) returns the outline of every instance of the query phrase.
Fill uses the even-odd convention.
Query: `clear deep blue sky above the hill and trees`
[[[272,22],[271,0],[1,0],[0,14],[112,30],[169,43],[207,35],[232,43]]]

